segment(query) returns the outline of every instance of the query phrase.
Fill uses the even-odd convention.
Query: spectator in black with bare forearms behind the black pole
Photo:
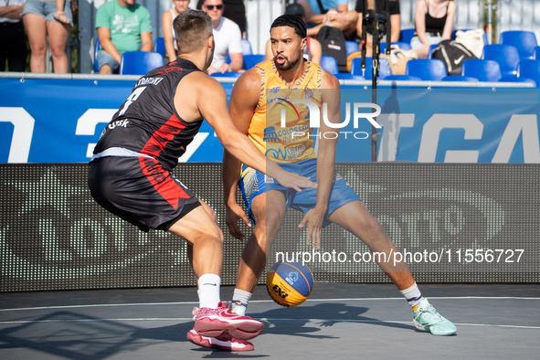
[[[399,0],[387,0],[388,4],[388,12],[390,13],[390,25],[392,27],[391,31],[392,34],[390,34],[390,41],[397,42],[399,41],[399,33],[401,32],[401,15],[399,11]],[[369,5],[368,5],[369,6]],[[386,11],[385,9],[385,1],[384,0],[376,0],[375,1],[375,8],[376,8],[376,14],[381,14],[383,11]],[[364,16],[365,16],[365,0],[356,0],[356,12],[358,13],[358,22],[356,23],[356,34],[358,37],[362,38],[362,24],[364,22]],[[367,37],[365,41],[365,56],[367,58],[370,58],[372,55],[373,50],[373,26],[367,26]],[[388,34],[386,34],[382,39],[381,42],[386,42],[386,37]]]

